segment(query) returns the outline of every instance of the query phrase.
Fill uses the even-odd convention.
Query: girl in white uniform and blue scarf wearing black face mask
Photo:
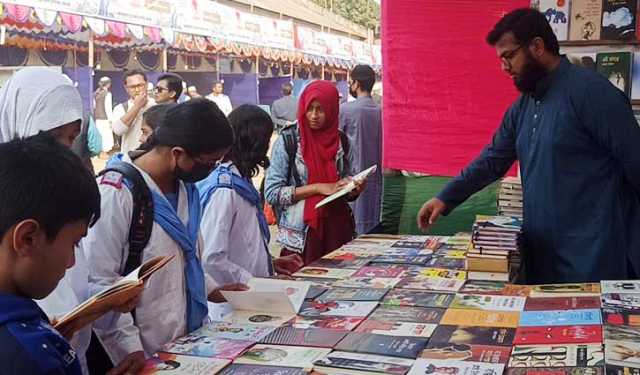
[[[133,160],[122,156],[120,162],[142,175],[153,198],[151,237],[141,262],[157,256],[174,255],[175,259],[146,282],[135,320],[131,314],[122,314],[109,328],[96,329],[111,361],[120,363],[112,373],[137,373],[145,357],[202,326],[207,300],[223,301],[220,289],[245,289],[239,285],[219,288],[200,263],[201,211],[194,182],[213,170],[232,143],[233,131],[215,104],[191,100],[167,111],[142,154],[131,153]],[[95,283],[112,284],[128,259],[134,205],[130,183],[113,171],[98,179],[101,219],[83,242]]]

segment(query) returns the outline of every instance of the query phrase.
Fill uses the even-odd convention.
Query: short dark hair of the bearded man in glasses
[[[560,56],[558,38],[544,14],[535,9],[521,8],[507,13],[489,32],[487,43],[495,46],[498,40],[508,32],[512,32],[516,41],[523,46],[540,37],[547,51]]]

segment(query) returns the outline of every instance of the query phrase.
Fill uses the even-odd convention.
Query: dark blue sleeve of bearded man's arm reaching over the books
[[[505,113],[500,127],[474,161],[438,194],[447,209],[445,215],[474,193],[504,176],[516,160],[516,121],[520,100]]]

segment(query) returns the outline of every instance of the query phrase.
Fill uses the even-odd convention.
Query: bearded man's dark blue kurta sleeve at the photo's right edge
[[[625,180],[640,194],[640,127],[624,93],[605,80],[594,81],[579,114],[588,133],[620,163]]]

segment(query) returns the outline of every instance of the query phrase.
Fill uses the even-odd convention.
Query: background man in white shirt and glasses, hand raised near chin
[[[147,76],[140,70],[124,74],[124,86],[129,100],[113,109],[113,132],[122,137],[120,151],[127,153],[140,146],[142,114],[155,102],[147,96]]]

